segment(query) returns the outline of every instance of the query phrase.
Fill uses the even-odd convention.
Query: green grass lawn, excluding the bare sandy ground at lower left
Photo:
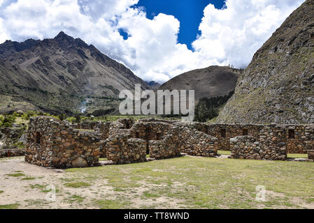
[[[73,182],[110,187],[99,208],[314,208],[314,162],[178,157],[68,169]],[[256,201],[256,187],[266,201]],[[83,196],[83,194],[78,194]]]

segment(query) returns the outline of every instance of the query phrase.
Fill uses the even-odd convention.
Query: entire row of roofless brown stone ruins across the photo
[[[76,128],[83,128],[77,130]],[[85,130],[88,131],[85,131]],[[31,118],[25,160],[43,167],[95,167],[180,157],[181,153],[234,159],[287,160],[287,153],[313,158],[314,125],[188,123],[163,119],[69,125],[55,118]]]

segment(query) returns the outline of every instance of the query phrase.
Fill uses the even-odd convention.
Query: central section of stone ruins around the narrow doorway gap
[[[180,156],[178,146],[172,144],[168,136],[170,124],[138,122],[130,129],[124,128],[126,125],[122,123],[111,123],[109,137],[103,142],[102,151],[106,151],[107,159],[113,163],[143,162],[148,154],[155,159]]]

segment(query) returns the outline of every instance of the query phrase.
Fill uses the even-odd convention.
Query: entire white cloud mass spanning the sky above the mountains
[[[95,45],[144,80],[166,82],[211,65],[243,68],[304,0],[227,0],[204,9],[194,50],[178,43],[180,21],[149,20],[138,0],[0,0],[0,42],[53,38],[59,31]],[[119,30],[129,34],[124,40]]]

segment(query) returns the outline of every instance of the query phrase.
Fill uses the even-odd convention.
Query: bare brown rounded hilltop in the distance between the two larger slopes
[[[194,90],[195,100],[228,95],[236,88],[240,70],[210,66],[178,75],[162,84],[159,90]]]

